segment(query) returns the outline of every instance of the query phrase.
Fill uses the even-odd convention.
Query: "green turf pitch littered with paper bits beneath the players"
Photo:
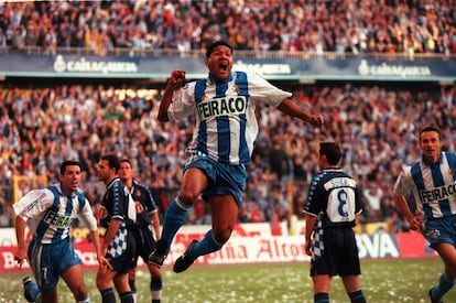
[[[368,302],[428,302],[427,290],[442,272],[442,261],[435,259],[363,260],[361,283]],[[0,275],[0,302],[25,302],[21,279],[24,274]],[[138,272],[138,302],[150,302],[149,273]],[[100,302],[95,286],[95,272],[86,272],[85,281],[93,302]],[[195,267],[176,274],[163,269],[162,302],[313,302],[308,263],[257,264],[232,267]],[[61,302],[70,293],[59,283]],[[335,278],[332,283],[333,303],[349,302]],[[456,288],[444,302],[456,302]]]

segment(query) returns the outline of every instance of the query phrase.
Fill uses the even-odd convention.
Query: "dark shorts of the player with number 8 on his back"
[[[323,256],[311,261],[311,277],[315,274],[361,274],[355,232],[350,228],[326,228]]]

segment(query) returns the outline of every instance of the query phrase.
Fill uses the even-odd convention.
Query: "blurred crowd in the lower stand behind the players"
[[[161,93],[79,84],[2,87],[0,225],[11,226],[13,175],[47,175],[56,182],[55,172],[64,159],[83,163],[83,188],[96,207],[105,191],[96,164],[107,152],[133,160],[139,180],[152,188],[164,210],[180,187],[193,121],[158,122]],[[310,85],[293,93],[300,106],[322,111],[327,122],[316,131],[274,109],[258,111],[260,133],[239,220],[285,220],[290,212],[300,216],[306,192],[300,182],[310,182],[318,170],[318,141],[336,140],[344,147],[344,169],[363,188],[363,220],[390,221],[397,230],[406,229],[391,197],[392,185],[402,163],[419,156],[414,138],[421,126],[439,126],[446,149],[456,149],[455,87]],[[289,187],[289,181],[296,186]],[[19,190],[26,192],[28,186],[22,182]],[[204,202],[196,203],[188,221],[208,223],[205,208]]]

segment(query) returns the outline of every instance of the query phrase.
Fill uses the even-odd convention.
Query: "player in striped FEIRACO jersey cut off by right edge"
[[[428,292],[432,302],[441,302],[456,279],[456,153],[442,151],[438,128],[422,129],[419,139],[422,158],[401,173],[393,193],[411,229],[422,231],[445,264],[437,285]],[[416,203],[415,214],[404,198],[409,191]]]

